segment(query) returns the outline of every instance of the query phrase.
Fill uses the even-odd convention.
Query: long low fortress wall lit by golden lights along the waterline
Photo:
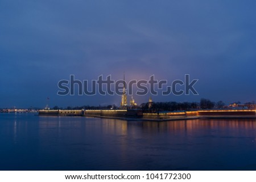
[[[256,118],[255,109],[199,110],[184,112],[143,113],[141,109],[118,110],[39,110],[40,116],[89,116],[129,120],[190,120],[195,118]]]

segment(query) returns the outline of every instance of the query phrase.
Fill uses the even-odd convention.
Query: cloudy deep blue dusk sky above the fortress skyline
[[[199,79],[199,95],[154,101],[256,100],[255,16],[253,0],[1,0],[0,108],[119,105],[119,95],[59,96],[57,83],[124,71],[126,81]]]

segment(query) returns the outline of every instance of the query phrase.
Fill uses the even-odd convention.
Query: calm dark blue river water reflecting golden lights
[[[256,120],[0,113],[0,170],[256,170]]]

